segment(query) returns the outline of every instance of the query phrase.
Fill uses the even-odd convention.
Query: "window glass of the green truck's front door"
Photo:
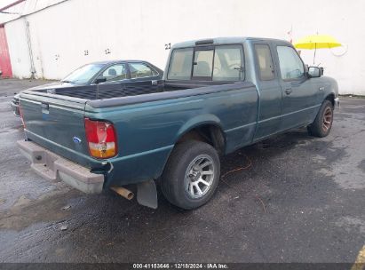
[[[304,75],[303,62],[293,48],[278,46],[277,52],[283,80],[298,79]]]

